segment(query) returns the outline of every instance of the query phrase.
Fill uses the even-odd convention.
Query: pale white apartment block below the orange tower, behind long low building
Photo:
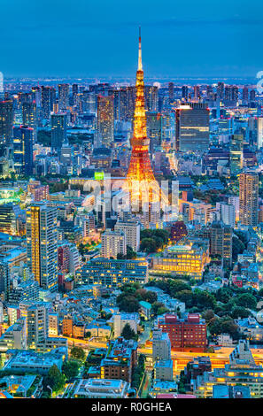
[[[106,229],[101,235],[101,254],[104,258],[117,258],[118,254],[126,256],[127,238],[123,231]]]

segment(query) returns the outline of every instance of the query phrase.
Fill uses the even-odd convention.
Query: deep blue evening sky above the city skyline
[[[5,76],[255,76],[262,0],[1,0]]]

